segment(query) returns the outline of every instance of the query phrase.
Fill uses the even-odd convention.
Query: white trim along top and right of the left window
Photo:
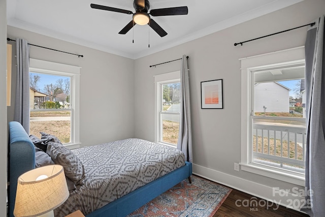
[[[73,149],[80,147],[80,127],[79,127],[79,115],[80,115],[80,69],[78,66],[71,66],[66,64],[54,63],[51,61],[45,61],[41,59],[29,59],[29,70],[32,72],[40,73],[55,73],[57,75],[72,76],[71,81],[71,94],[72,94],[72,107],[74,109],[71,117],[71,141],[72,143],[64,146]]]

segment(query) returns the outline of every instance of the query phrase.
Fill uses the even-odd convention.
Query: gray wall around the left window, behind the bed
[[[83,54],[79,57],[30,46],[30,58],[81,67],[80,142],[82,146],[134,137],[134,60],[8,26],[8,37],[30,44]],[[13,44],[13,50],[15,43]],[[13,54],[14,55],[14,54]],[[13,57],[13,81],[16,78]],[[13,82],[12,96],[15,96]],[[8,107],[13,120],[14,104]]]

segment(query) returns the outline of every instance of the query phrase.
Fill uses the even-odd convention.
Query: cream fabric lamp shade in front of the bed
[[[40,216],[60,206],[69,197],[66,176],[61,165],[49,165],[18,177],[14,215]]]

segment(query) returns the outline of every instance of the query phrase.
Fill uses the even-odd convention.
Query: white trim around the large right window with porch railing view
[[[249,88],[250,72],[261,69],[262,66],[276,67],[284,63],[301,63],[305,59],[305,47],[291,48],[272,53],[241,58],[241,169],[278,180],[305,185],[305,174],[279,169],[258,163],[251,163],[249,156],[249,101],[251,89]]]

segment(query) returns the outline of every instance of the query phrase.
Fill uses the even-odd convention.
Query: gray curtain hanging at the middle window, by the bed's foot
[[[181,66],[181,111],[177,149],[183,151],[186,161],[192,162],[191,112],[186,55],[182,57]]]

